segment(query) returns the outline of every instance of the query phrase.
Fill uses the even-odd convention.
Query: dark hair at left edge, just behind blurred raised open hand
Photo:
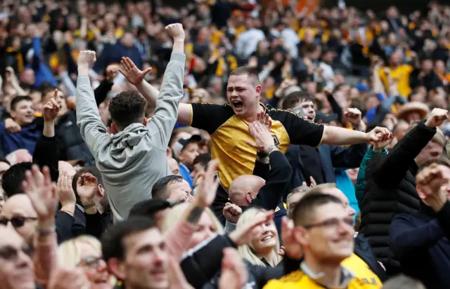
[[[11,197],[15,194],[23,194],[22,183],[25,180],[25,172],[31,170],[33,163],[16,163],[4,173],[1,180],[6,196]]]

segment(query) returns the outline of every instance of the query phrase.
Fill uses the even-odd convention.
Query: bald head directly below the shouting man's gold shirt
[[[256,175],[240,175],[231,183],[229,189],[230,201],[237,206],[249,206],[256,199],[259,190],[266,181]]]

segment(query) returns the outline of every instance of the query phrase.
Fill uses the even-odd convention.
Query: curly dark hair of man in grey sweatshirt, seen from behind
[[[118,129],[123,130],[131,123],[141,123],[146,100],[134,90],[122,91],[110,102],[109,112]]]

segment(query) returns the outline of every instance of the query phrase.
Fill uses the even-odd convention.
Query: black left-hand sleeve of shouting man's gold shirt
[[[230,105],[193,103],[191,109],[191,126],[206,130],[210,135],[234,115]]]

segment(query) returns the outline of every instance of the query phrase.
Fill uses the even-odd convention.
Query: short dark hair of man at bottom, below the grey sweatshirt
[[[124,260],[124,238],[130,234],[156,228],[154,220],[149,217],[129,217],[127,220],[117,222],[108,228],[101,238],[101,251],[105,261],[111,258]]]

